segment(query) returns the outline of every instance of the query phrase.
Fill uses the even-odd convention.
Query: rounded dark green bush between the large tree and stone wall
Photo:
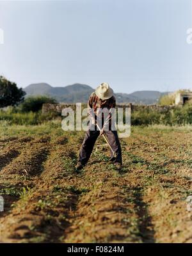
[[[30,96],[19,107],[21,112],[38,112],[42,109],[44,103],[54,104],[56,100],[47,96]]]

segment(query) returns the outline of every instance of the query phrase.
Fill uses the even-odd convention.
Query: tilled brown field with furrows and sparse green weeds
[[[84,133],[49,125],[1,128],[0,242],[192,242],[192,128],[133,128],[120,173],[100,138],[77,173]]]

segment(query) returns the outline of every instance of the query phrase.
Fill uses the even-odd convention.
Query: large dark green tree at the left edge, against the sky
[[[26,93],[17,84],[0,76],[0,107],[18,105],[24,100],[24,95]]]

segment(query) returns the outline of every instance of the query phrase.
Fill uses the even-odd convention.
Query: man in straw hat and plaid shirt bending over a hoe
[[[90,114],[90,127],[84,136],[83,144],[81,145],[81,150],[79,152],[79,160],[76,165],[77,170],[83,169],[84,165],[90,159],[92,154],[93,147],[99,135],[105,134],[108,138],[109,145],[115,152],[115,156],[113,156],[113,152],[111,152],[111,160],[116,167],[116,169],[120,170],[122,166],[122,151],[120,142],[118,140],[118,135],[116,129],[114,129],[114,123],[112,122],[113,118],[111,118],[111,109],[115,109],[116,100],[115,96],[113,96],[113,90],[109,87],[109,84],[102,83],[97,87],[94,93],[90,95],[88,100],[88,113]],[[104,120],[103,113],[99,114],[98,109],[108,109],[108,118]],[[101,123],[100,131],[97,129],[98,123]],[[108,129],[106,127],[108,126]]]

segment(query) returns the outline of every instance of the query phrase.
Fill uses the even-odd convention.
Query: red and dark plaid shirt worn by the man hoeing
[[[88,100],[88,114],[90,114],[90,117],[97,116],[97,118],[101,118],[100,113],[98,109],[108,109],[109,110],[109,119],[111,118],[110,109],[115,108],[116,106],[116,100],[115,96],[112,96],[111,98],[108,98],[108,100],[101,100],[95,93],[92,93],[90,95],[90,98]],[[102,118],[104,114],[102,113]]]

